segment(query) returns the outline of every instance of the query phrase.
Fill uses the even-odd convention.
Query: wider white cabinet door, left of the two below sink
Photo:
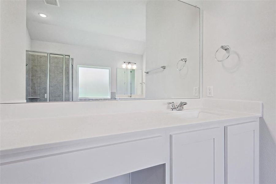
[[[171,183],[224,183],[224,131],[215,127],[171,135]]]

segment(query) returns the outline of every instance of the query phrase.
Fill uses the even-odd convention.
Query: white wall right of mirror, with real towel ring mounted
[[[202,1],[203,97],[263,102],[260,120],[260,183],[276,183],[276,1]],[[214,60],[221,45],[232,54]],[[210,98],[210,97],[208,97]]]

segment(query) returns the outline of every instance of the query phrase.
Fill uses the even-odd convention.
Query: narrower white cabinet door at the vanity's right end
[[[225,183],[259,183],[259,122],[225,126]]]

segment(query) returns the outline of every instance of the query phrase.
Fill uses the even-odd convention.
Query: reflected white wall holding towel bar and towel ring
[[[199,98],[199,9],[180,1],[149,1],[146,5],[146,98]],[[187,58],[178,71],[177,62]]]

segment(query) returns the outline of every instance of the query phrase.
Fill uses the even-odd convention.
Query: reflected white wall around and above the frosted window
[[[136,69],[142,69],[142,55],[38,40],[32,40],[31,43],[31,50],[33,51],[69,54],[74,58],[74,101],[77,101],[78,98],[77,65],[111,67],[111,91],[116,91],[117,68],[121,68],[124,61],[137,63]]]

